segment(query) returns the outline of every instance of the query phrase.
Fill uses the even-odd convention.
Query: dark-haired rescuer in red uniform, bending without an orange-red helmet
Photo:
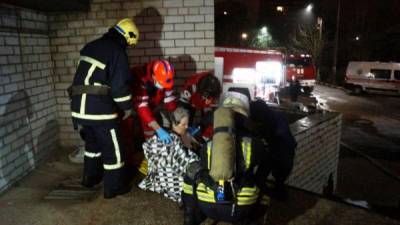
[[[217,106],[218,99],[221,95],[222,87],[219,80],[212,72],[200,72],[193,74],[186,80],[180,93],[178,104],[190,113],[189,133],[193,135],[197,131],[194,126],[194,117],[197,110],[201,111],[201,135],[208,139],[212,136],[212,125],[209,120],[212,117],[212,109]]]

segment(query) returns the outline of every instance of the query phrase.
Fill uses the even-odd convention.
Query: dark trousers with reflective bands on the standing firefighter
[[[120,144],[118,124],[83,126],[85,141],[83,181],[93,186],[104,179],[104,193],[118,193],[127,186],[124,171],[125,154]]]

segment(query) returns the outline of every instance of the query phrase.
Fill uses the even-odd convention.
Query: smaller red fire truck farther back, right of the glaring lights
[[[315,86],[317,71],[311,55],[288,55],[286,58],[286,80],[298,80],[305,92],[311,92]]]

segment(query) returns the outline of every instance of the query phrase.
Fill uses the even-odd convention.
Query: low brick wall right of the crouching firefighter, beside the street
[[[336,189],[341,114],[315,114],[291,124],[298,146],[289,185],[322,194],[332,176]]]

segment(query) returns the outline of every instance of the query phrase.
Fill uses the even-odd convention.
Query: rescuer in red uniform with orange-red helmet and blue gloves
[[[173,95],[174,69],[166,60],[155,60],[131,70],[135,82],[132,82],[134,107],[138,112],[145,139],[151,138],[154,132],[165,144],[171,137],[156,121],[153,111],[163,107],[174,111],[177,107]]]

